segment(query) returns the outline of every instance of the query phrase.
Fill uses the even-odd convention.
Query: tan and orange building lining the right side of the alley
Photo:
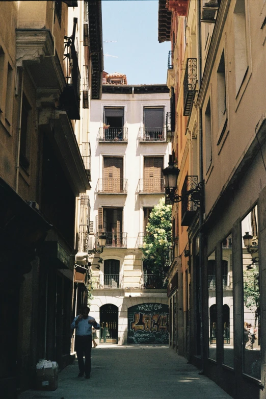
[[[264,397],[265,29],[264,2],[159,0],[179,170],[170,342],[245,398]]]

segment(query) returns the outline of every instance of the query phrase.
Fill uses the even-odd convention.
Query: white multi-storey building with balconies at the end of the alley
[[[103,79],[101,100],[91,102],[89,239],[97,248],[104,232],[107,243],[90,260],[91,315],[100,321],[100,343],[168,343],[166,288],[143,268],[140,246],[164,196],[169,89],[128,85],[117,72],[103,72]]]

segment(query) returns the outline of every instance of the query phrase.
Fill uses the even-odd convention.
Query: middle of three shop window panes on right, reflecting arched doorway
[[[223,273],[223,364],[234,366],[233,336],[233,273],[232,273],[232,236],[222,243]]]

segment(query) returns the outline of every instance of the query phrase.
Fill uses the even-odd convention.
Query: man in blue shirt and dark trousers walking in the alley
[[[72,333],[76,329],[75,333],[75,348],[76,356],[78,361],[79,374],[77,377],[83,377],[84,372],[86,378],[90,378],[91,372],[91,347],[92,347],[92,326],[96,329],[100,329],[100,325],[96,322],[93,317],[89,316],[90,308],[84,306],[81,310],[81,314],[76,316],[71,324]],[[83,356],[85,355],[85,365]]]

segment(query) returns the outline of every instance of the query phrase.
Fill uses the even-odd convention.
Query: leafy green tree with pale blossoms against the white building
[[[143,267],[154,276],[157,288],[163,287],[169,269],[169,251],[172,247],[172,206],[164,198],[153,208],[146,227],[141,250]]]

